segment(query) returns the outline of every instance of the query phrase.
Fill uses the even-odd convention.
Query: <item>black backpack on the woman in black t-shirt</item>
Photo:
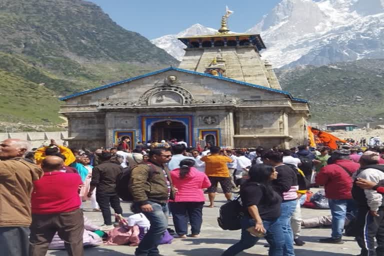
[[[244,215],[242,205],[239,201],[240,196],[229,200],[220,207],[218,225],[224,230],[241,229],[241,217]]]

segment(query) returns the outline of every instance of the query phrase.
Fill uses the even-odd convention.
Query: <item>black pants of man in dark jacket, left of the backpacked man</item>
[[[105,225],[112,224],[109,205],[113,208],[115,213],[122,213],[122,209],[120,206],[120,198],[116,193],[96,193],[96,201],[98,203],[98,206],[100,206]]]

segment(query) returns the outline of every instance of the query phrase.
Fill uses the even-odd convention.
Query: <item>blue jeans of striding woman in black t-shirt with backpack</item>
[[[283,256],[284,236],[282,228],[277,219],[265,220],[263,219],[263,226],[266,230],[265,239],[268,241],[269,256]],[[254,226],[255,221],[248,216],[244,216],[241,220],[241,238],[240,240],[227,248],[221,256],[234,256],[240,251],[252,247],[260,238],[251,235],[246,229]]]

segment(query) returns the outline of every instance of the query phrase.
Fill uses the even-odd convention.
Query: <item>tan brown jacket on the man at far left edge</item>
[[[29,226],[33,180],[42,169],[22,158],[0,161],[0,226]]]

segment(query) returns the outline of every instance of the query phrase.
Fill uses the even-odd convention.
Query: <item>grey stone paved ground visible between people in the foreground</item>
[[[174,239],[171,244],[160,245],[160,253],[166,256],[218,256],[231,244],[235,243],[240,236],[240,231],[226,231],[218,227],[216,217],[218,215],[218,207],[224,203],[222,195],[217,196],[216,207],[203,209],[203,225],[199,238]],[[129,216],[129,204],[122,202],[124,216]],[[88,204],[89,205],[89,204]],[[85,208],[87,209],[87,208]],[[328,215],[329,210],[314,210],[302,208],[303,218]],[[95,224],[102,224],[102,216],[99,212],[85,212],[85,215],[94,221]],[[173,228],[172,220],[169,220],[169,226]],[[174,229],[174,228],[173,228]],[[323,244],[318,243],[317,239],[328,237],[329,228],[308,228],[302,229],[301,238],[306,242],[304,246],[295,246],[296,256],[346,256],[356,255],[359,248],[353,237],[344,237],[344,244]],[[262,245],[265,240],[261,239],[255,246],[245,252],[237,254],[238,256],[260,256],[267,255],[267,248]],[[94,248],[86,248],[85,255],[90,256],[122,256],[134,255],[135,247],[129,246],[98,246]],[[50,250],[47,255],[67,255],[65,251]]]

